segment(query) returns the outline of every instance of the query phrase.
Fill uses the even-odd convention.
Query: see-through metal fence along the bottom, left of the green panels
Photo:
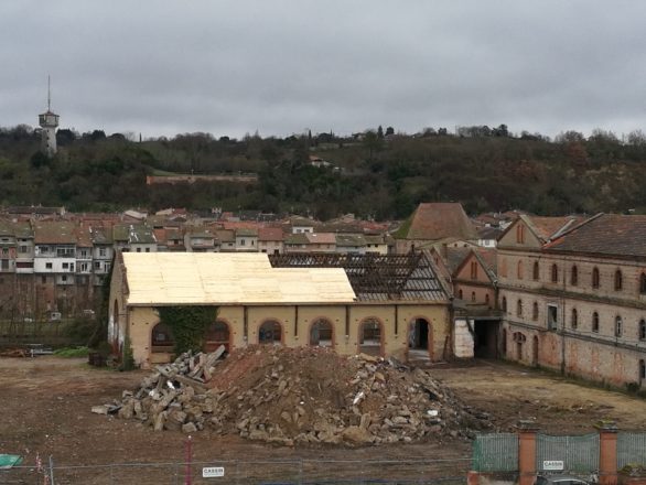
[[[203,476],[204,468],[222,475]],[[56,485],[463,485],[470,460],[267,460],[192,463],[115,463],[13,467],[0,484]],[[218,472],[219,473],[219,472]]]

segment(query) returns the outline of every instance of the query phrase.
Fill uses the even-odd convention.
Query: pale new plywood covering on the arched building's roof
[[[348,303],[342,268],[272,268],[267,255],[125,252],[128,304]]]

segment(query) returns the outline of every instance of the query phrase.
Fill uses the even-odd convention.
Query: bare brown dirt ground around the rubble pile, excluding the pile
[[[30,461],[37,452],[57,465],[182,462],[186,436],[154,432],[131,420],[94,414],[90,408],[134,389],[147,371],[119,373],[91,368],[85,359],[0,358],[0,453]],[[646,400],[575,384],[549,374],[502,363],[438,366],[443,380],[467,405],[492,417],[500,431],[519,419],[535,418],[553,434],[593,431],[600,419],[621,429],[646,430]],[[411,460],[469,459],[470,442],[345,448],[280,448],[208,431],[193,436],[195,461],[325,459]]]

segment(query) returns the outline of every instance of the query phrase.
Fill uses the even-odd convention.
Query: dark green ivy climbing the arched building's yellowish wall
[[[206,328],[217,317],[217,306],[158,306],[160,321],[168,325],[175,340],[174,352],[202,351]]]

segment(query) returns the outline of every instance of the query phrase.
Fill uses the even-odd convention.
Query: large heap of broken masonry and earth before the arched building
[[[441,441],[491,428],[487,414],[462,405],[427,370],[395,359],[322,347],[220,355],[184,354],[121,401],[93,411],[159,431],[207,429],[284,445]]]

